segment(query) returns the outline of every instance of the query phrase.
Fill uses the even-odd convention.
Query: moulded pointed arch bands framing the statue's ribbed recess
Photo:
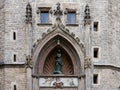
[[[64,30],[53,30],[40,40],[33,53],[33,74],[43,75],[43,66],[48,54],[57,46],[56,40],[60,39],[60,46],[70,56],[74,75],[79,75],[84,71],[84,54],[79,43]]]

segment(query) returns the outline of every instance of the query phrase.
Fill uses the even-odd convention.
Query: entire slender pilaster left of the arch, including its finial
[[[26,79],[27,90],[32,90],[32,7],[26,6]]]

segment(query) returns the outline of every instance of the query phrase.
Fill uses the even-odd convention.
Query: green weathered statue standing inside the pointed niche
[[[56,56],[56,62],[55,62],[55,68],[53,74],[61,74],[62,73],[61,68],[62,68],[62,59],[61,59],[61,51],[59,49]]]

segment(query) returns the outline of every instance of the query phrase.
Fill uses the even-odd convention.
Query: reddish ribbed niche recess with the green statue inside
[[[45,59],[43,75],[53,74],[74,74],[72,60],[62,47],[60,49],[55,47]]]

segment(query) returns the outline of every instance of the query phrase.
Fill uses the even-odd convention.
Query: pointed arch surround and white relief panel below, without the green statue
[[[53,73],[58,48],[62,54],[62,74]],[[36,47],[33,60],[34,90],[53,90],[64,87],[64,90],[68,90],[68,88],[76,90],[80,87],[81,90],[84,90],[84,80],[80,80],[80,75],[84,71],[84,54],[79,44],[68,33],[62,30],[54,30],[46,35]]]

